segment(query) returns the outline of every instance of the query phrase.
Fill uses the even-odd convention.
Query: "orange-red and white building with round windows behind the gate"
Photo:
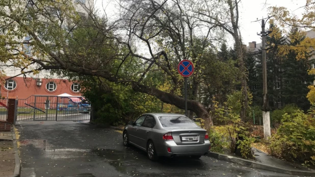
[[[88,15],[86,9],[93,11],[94,0],[75,0],[73,5],[80,15],[86,16]],[[32,38],[26,36],[24,40],[32,41]],[[33,57],[30,45],[24,44],[23,50],[26,54]],[[18,99],[26,99],[31,95],[56,96],[62,93],[81,96],[80,84],[69,82],[66,78],[59,78],[57,75],[51,74],[50,70],[42,70],[37,74],[28,73],[24,75],[26,78],[23,78],[21,68],[16,68],[13,65],[12,63],[10,67],[7,65],[0,66],[0,69],[4,70],[7,75],[7,77],[1,78],[1,80],[6,80],[5,84],[0,83],[0,96],[2,98],[17,97]],[[32,68],[38,68],[38,66],[36,64],[29,66],[29,69]]]

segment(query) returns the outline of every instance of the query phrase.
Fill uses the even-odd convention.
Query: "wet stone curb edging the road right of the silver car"
[[[315,176],[315,171],[287,170],[287,169],[282,169],[282,168],[278,168],[278,167],[274,167],[274,166],[270,166],[270,165],[265,165],[265,164],[261,164],[258,162],[253,162],[253,161],[249,161],[249,160],[245,160],[245,159],[241,159],[241,158],[236,158],[236,157],[232,157],[232,156],[213,153],[211,151],[209,151],[207,156],[215,158],[215,159],[219,159],[219,160],[224,160],[227,162],[237,163],[240,165],[245,165],[245,166],[252,167],[252,168],[259,168],[259,169],[268,170],[268,171],[274,171],[274,172],[292,174],[292,175],[299,175],[299,176],[301,176],[301,175],[303,175],[303,176]]]

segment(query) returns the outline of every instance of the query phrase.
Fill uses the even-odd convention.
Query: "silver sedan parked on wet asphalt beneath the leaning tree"
[[[152,113],[130,121],[123,131],[123,143],[147,152],[150,160],[159,156],[200,158],[210,148],[207,132],[181,114]]]

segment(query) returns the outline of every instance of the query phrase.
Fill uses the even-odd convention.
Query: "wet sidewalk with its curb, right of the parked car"
[[[255,160],[245,160],[241,157],[223,155],[218,153],[209,152],[207,156],[216,159],[237,163],[241,165],[246,165],[252,168],[259,168],[263,170],[269,170],[279,173],[302,175],[302,176],[315,176],[315,170],[309,169],[298,164],[293,164],[290,162],[282,161],[271,157],[262,151],[252,148],[254,151]]]

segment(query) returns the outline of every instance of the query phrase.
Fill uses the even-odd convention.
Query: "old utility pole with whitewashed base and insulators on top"
[[[269,18],[268,18],[269,19]],[[268,20],[267,19],[267,20]],[[265,138],[268,139],[271,137],[270,130],[270,108],[269,108],[269,100],[268,100],[268,91],[267,91],[267,59],[266,59],[266,36],[270,32],[265,31],[265,19],[261,20],[261,52],[263,54],[263,123],[264,123],[264,135]]]

